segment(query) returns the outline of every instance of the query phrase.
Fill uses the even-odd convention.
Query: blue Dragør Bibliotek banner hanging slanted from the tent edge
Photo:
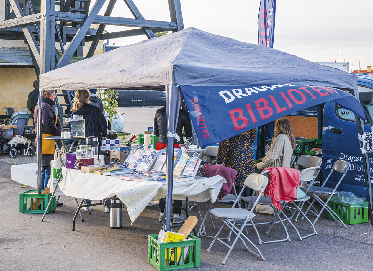
[[[180,89],[201,146],[221,142],[330,100],[365,120],[364,109],[354,96],[325,86],[180,85]]]

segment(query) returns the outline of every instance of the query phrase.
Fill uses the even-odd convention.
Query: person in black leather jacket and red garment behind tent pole
[[[179,117],[178,117],[178,125],[176,126],[176,133],[180,136],[180,140],[177,141],[175,138],[174,146],[179,148],[179,144],[184,144],[184,138],[182,134],[182,130],[184,127],[184,135],[185,137],[189,138],[193,136],[192,126],[189,121],[188,113],[184,109],[180,108]],[[156,111],[156,115],[154,116],[154,135],[158,136],[158,141],[156,144],[156,149],[164,149],[167,147],[167,113],[166,107],[159,108]],[[173,223],[181,223],[184,221],[183,218],[180,218],[181,215],[181,205],[182,201],[175,199],[173,201]],[[166,207],[166,202],[164,199],[159,200],[159,221],[163,221],[164,216],[164,208]]]

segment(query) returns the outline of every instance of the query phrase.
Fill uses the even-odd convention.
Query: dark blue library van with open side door
[[[373,75],[357,73],[360,103],[364,107],[366,120],[365,132],[372,130],[373,125]],[[367,196],[363,156],[358,140],[358,129],[354,113],[346,110],[334,101],[328,101],[286,116],[292,124],[294,136],[322,139],[322,180],[325,180],[332,165],[338,159],[351,163],[350,170],[337,190],[349,191],[356,195]],[[257,144],[254,144],[256,157],[263,157],[265,139],[273,137],[274,123],[258,128]],[[369,156],[370,173],[373,176],[373,141],[366,138],[366,149]],[[333,174],[326,186],[334,187],[341,176]],[[371,177],[373,180],[373,177]]]

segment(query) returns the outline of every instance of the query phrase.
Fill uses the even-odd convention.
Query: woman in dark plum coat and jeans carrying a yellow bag
[[[61,135],[61,132],[63,131],[61,122],[52,107],[52,105],[56,104],[56,102],[54,101],[55,97],[56,91],[46,90],[43,92],[43,100],[41,102],[41,133],[48,133],[52,136]],[[39,103],[37,103],[34,110],[35,123],[37,123],[38,121],[38,108]],[[56,125],[54,125],[55,123]],[[37,123],[37,125],[39,125],[39,123]],[[38,130],[36,129],[36,132],[37,131]],[[37,144],[38,140],[36,139],[35,142]],[[41,154],[41,190],[44,190],[47,187],[47,183],[50,177],[50,161],[53,160],[54,154],[44,154],[43,149]]]

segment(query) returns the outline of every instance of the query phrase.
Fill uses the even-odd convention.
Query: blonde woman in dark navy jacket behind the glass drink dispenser
[[[107,123],[101,109],[90,104],[90,96],[87,90],[78,89],[75,92],[74,103],[71,108],[72,114],[82,115],[85,120],[85,136],[96,136],[98,149],[101,149],[102,134],[107,131]]]

